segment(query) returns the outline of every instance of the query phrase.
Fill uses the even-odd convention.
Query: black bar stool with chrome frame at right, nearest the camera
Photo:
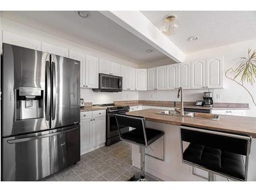
[[[250,136],[180,126],[180,139],[182,162],[206,170],[208,181],[216,175],[247,181]],[[183,142],[189,143],[184,152]]]

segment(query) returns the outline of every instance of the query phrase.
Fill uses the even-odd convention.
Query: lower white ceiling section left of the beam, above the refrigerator
[[[168,58],[98,11],[90,11],[88,18],[75,11],[2,11],[1,17],[137,64]]]

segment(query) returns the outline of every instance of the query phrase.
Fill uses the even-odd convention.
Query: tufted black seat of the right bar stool
[[[229,177],[245,179],[243,156],[236,153],[190,143],[183,153],[183,159]]]

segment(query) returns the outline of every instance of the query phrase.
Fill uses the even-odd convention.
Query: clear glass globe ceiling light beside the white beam
[[[171,36],[175,34],[179,29],[179,22],[177,21],[177,15],[167,14],[163,17],[164,25],[162,26],[162,33]]]

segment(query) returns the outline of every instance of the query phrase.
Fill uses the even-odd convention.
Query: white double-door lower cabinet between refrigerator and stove
[[[81,112],[80,154],[86,154],[105,145],[105,110]]]

